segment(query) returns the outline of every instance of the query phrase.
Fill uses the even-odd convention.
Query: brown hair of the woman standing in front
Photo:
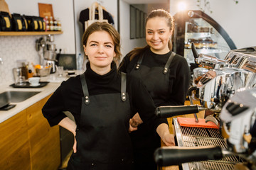
[[[110,36],[113,39],[114,42],[114,52],[116,53],[116,56],[114,57],[114,62],[116,64],[119,64],[120,58],[121,58],[121,52],[120,52],[120,35],[117,32],[117,30],[114,29],[113,26],[110,25],[110,23],[107,22],[95,22],[92,23],[86,30],[85,33],[82,35],[82,45],[87,44],[87,40],[89,36],[92,33],[95,33],[97,31],[106,31],[110,34]],[[87,55],[85,55],[85,58],[88,59]]]

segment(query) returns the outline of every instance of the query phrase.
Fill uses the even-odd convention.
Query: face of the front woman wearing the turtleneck
[[[110,72],[111,62],[116,53],[114,52],[114,42],[109,33],[103,30],[89,35],[84,50],[93,71],[104,69],[106,73]]]

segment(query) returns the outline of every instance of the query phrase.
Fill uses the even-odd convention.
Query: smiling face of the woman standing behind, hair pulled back
[[[168,42],[171,33],[164,17],[150,18],[146,23],[146,43],[151,47],[151,51],[156,54],[166,54],[170,51]]]

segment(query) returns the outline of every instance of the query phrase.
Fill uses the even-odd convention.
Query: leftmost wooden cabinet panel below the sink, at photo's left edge
[[[26,111],[0,123],[1,169],[31,169]]]

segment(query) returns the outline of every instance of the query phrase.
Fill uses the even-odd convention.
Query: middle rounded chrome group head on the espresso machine
[[[255,73],[245,69],[213,69],[204,74],[198,82],[198,96],[206,108],[215,108],[217,103],[223,106],[236,91],[255,86],[254,81]]]

